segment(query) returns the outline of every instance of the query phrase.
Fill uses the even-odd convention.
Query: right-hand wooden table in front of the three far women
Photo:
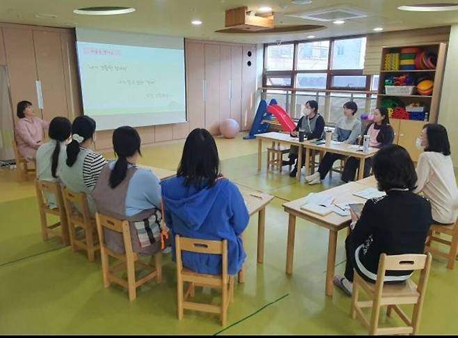
[[[372,158],[372,156],[374,156],[377,153],[377,151],[379,151],[379,149],[369,148],[369,151],[367,153],[363,153],[362,151],[358,151],[355,148],[350,148],[351,146],[351,144],[337,144],[334,142],[331,142],[330,146],[326,146],[326,144],[314,144],[313,141],[304,141],[303,147],[306,148],[306,176],[310,174],[310,150],[315,150],[321,153],[335,153],[345,156],[352,156],[354,158],[359,158],[358,180],[361,180],[364,177],[365,160],[367,158]]]

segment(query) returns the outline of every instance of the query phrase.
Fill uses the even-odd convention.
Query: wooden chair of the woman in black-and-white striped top
[[[86,250],[89,261],[93,262],[95,261],[95,251],[100,250],[100,245],[97,244],[97,224],[95,224],[95,219],[90,217],[86,194],[84,192],[72,192],[66,187],[62,187],[62,197],[67,213],[70,245],[74,252],[78,249]],[[77,229],[84,230],[83,238],[77,237]]]

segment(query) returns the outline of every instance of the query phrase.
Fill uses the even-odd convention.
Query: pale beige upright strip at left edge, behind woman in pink
[[[13,109],[6,66],[0,66],[0,160],[13,160]]]

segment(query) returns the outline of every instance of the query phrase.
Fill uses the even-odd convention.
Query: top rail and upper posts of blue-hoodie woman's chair
[[[182,251],[197,252],[200,254],[221,254],[223,279],[228,276],[228,240],[201,240],[198,238],[184,238],[175,235],[175,253],[177,268],[183,268]]]

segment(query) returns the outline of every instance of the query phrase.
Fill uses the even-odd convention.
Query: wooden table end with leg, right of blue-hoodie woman
[[[250,217],[258,213],[258,263],[264,262],[264,233],[265,233],[265,219],[266,219],[266,206],[274,199],[273,196],[269,194],[263,194],[255,190],[249,190],[245,188],[239,188],[240,192],[248,204]],[[257,194],[262,197],[254,197],[251,194]],[[242,242],[244,241],[244,234],[242,233]],[[239,271],[239,283],[245,282],[245,267],[242,266],[242,269]]]

